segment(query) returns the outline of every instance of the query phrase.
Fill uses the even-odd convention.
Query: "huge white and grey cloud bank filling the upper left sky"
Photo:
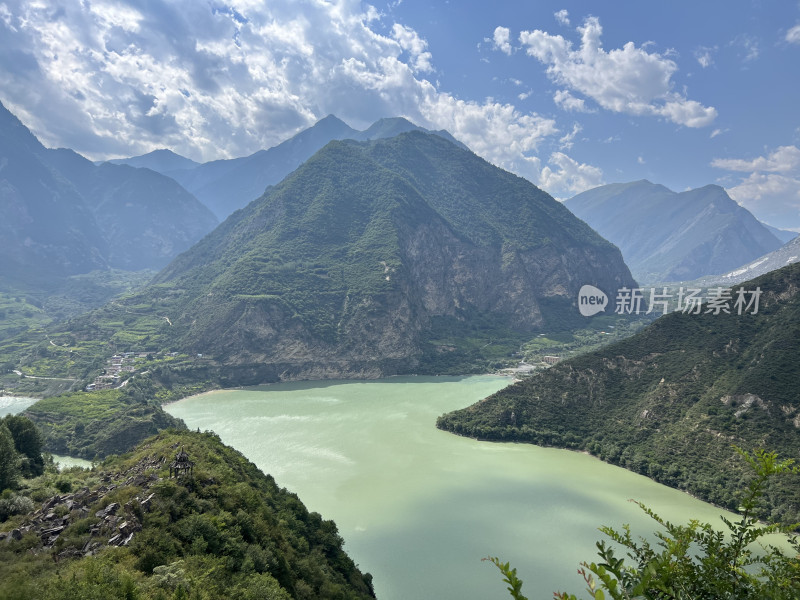
[[[426,40],[356,0],[0,6],[0,99],[46,145],[93,159],[244,156],[330,113],[362,128],[399,115],[537,181],[534,153],[559,133],[552,119],[437,89]]]

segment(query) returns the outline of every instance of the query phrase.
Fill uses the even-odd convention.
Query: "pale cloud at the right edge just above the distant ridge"
[[[800,149],[781,146],[752,159],[714,159],[711,165],[748,175],[727,186],[728,194],[760,219],[776,226],[800,228]]]

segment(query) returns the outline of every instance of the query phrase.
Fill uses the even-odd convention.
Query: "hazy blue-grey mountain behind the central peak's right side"
[[[565,204],[619,247],[640,284],[722,274],[781,246],[716,185],[676,193],[646,180],[614,183]]]

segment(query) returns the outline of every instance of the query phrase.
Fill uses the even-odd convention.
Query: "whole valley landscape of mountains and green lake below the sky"
[[[800,455],[795,232],[717,184],[560,201],[445,129],[360,127],[90,161],[0,104],[0,597],[495,597],[487,556],[580,589],[598,526],[670,529],[631,497],[780,550],[762,579],[744,534],[711,581],[584,565],[606,589],[793,597],[800,470],[753,481]]]

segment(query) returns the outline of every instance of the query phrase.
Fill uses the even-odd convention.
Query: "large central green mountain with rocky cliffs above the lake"
[[[633,280],[545,192],[410,131],[329,143],[86,327],[131,306],[150,344],[253,367],[255,382],[441,372],[477,341],[513,351],[569,326],[587,283],[612,293]]]

